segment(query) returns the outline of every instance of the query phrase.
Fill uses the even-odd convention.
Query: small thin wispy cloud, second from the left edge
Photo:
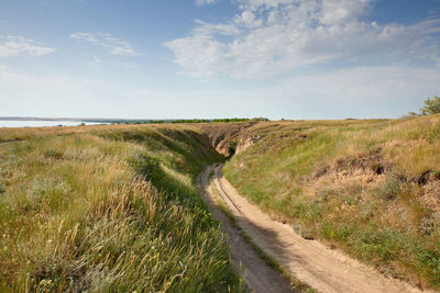
[[[138,55],[129,42],[114,37],[110,33],[73,33],[70,37],[79,42],[87,42],[103,47],[112,55]]]

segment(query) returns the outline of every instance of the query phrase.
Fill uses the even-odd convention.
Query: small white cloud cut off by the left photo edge
[[[43,47],[35,45],[35,41],[23,36],[2,36],[0,35],[0,57],[11,57],[20,55],[42,56],[54,53],[54,47]]]

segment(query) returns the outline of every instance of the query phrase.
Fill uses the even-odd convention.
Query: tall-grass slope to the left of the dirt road
[[[0,129],[0,291],[240,291],[188,125]]]

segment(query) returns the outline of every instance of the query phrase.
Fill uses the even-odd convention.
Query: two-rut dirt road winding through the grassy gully
[[[288,292],[288,286],[276,271],[264,261],[255,259],[258,256],[241,239],[239,230],[231,227],[228,217],[216,207],[216,195],[209,185],[209,174],[212,172],[213,188],[239,226],[296,279],[319,292],[420,292],[404,282],[385,278],[338,250],[329,249],[316,240],[306,240],[290,225],[272,219],[237,192],[222,176],[221,168],[221,165],[208,167],[200,174],[200,187],[204,198],[212,207],[213,216],[221,221],[223,230],[230,235],[235,266],[238,262],[244,264],[244,280],[254,292]]]

